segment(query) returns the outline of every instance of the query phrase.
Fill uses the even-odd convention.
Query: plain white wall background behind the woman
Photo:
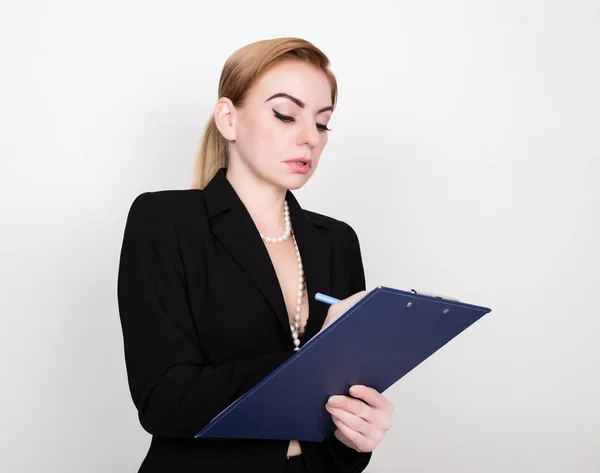
[[[0,9],[0,471],[137,471],[126,213],[189,187],[223,63],[276,36],[340,86],[302,205],[356,229],[369,287],[493,309],[386,392],[367,471],[600,471],[600,2]]]

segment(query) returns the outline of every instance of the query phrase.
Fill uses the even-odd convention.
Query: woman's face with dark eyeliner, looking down
[[[331,106],[325,73],[299,61],[277,64],[232,112],[230,165],[284,189],[303,186],[327,144]]]

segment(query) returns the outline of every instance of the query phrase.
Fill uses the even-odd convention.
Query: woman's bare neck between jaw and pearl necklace
[[[267,235],[283,233],[286,189],[265,182],[242,166],[230,165],[226,177],[259,231]]]

